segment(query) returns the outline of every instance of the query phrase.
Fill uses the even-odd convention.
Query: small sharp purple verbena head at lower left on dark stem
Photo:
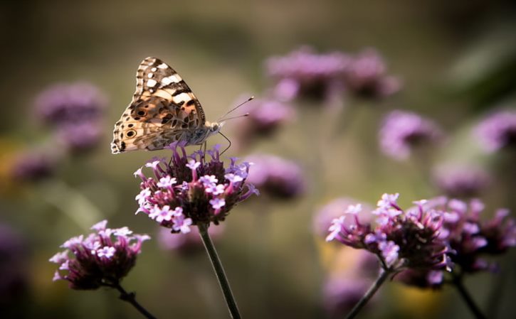
[[[87,237],[68,239],[50,261],[59,264],[53,280],[65,280],[73,289],[97,289],[117,285],[135,266],[142,242],[147,235],[132,234],[127,227],[107,228],[107,220],[98,222]]]

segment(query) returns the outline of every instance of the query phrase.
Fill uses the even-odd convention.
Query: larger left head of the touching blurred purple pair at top
[[[335,92],[343,92],[344,72],[350,61],[344,53],[317,54],[305,46],[288,55],[269,58],[266,69],[276,82],[275,96],[280,99],[327,99]]]

